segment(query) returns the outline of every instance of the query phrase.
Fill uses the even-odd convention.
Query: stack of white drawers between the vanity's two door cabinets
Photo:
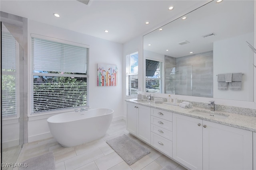
[[[151,108],[151,145],[172,157],[172,113]]]

